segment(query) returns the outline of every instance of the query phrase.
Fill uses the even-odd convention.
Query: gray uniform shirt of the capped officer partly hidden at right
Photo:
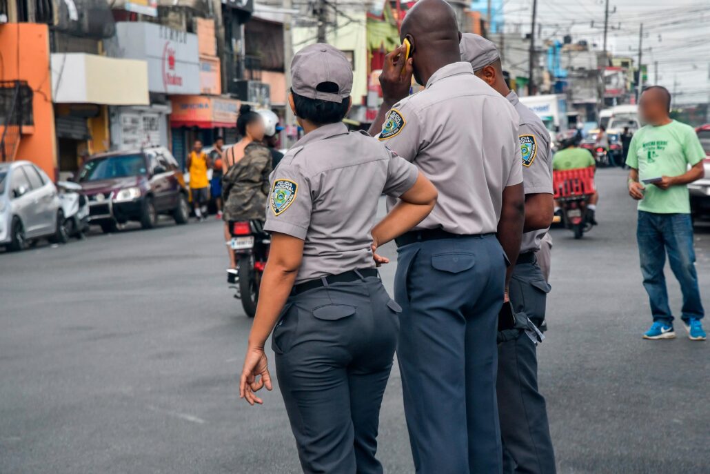
[[[512,90],[506,99],[513,104],[520,117],[520,156],[523,161],[523,186],[525,194],[552,194],[552,150],[550,132],[542,124],[540,117],[528,109]],[[540,249],[540,240],[547,229],[532,230],[523,234],[520,253]]]

